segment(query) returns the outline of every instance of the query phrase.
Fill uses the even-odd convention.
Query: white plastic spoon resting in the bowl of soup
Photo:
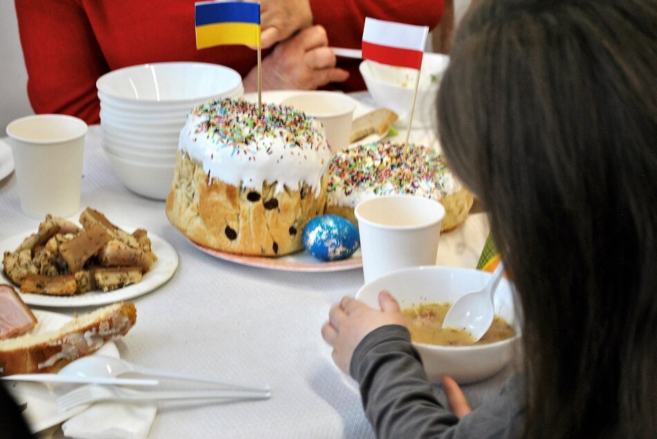
[[[468,292],[456,299],[445,315],[443,329],[463,329],[472,335],[474,342],[478,342],[490,328],[495,316],[493,298],[503,272],[504,266],[500,262],[481,290]]]

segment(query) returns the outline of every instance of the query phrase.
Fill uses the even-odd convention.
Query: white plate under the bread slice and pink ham
[[[55,312],[32,310],[39,323],[33,329],[33,333],[40,334],[50,330],[57,330],[64,326],[71,317],[57,314]],[[107,342],[96,353],[92,355],[109,355],[119,357],[119,351],[113,342]],[[59,413],[55,400],[59,395],[71,389],[70,384],[45,384],[38,382],[12,382],[7,381],[7,389],[12,393],[17,404],[27,403],[23,415],[33,433],[60,424],[68,418],[86,409],[86,406],[75,407],[69,411]]]

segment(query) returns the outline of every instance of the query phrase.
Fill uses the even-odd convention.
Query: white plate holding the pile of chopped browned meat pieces
[[[131,230],[124,227],[122,227],[122,229],[126,231]],[[1,241],[0,254],[6,250],[13,252],[19,245],[21,245],[23,240],[32,233],[33,232],[27,232]],[[178,268],[178,253],[176,253],[176,250],[171,244],[167,243],[167,241],[159,236],[149,232],[148,237],[151,240],[151,249],[156,256],[158,256],[158,260],[153,264],[151,269],[144,274],[144,277],[142,277],[142,280],[138,283],[133,283],[133,285],[119,288],[118,290],[108,292],[95,290],[76,296],[48,296],[21,292],[21,298],[28,305],[69,308],[76,306],[107,305],[109,303],[132,299],[133,297],[155,290],[158,286],[171,279],[174,272],[176,272],[176,268]],[[1,279],[4,279],[7,283],[12,283],[4,273],[1,274]]]

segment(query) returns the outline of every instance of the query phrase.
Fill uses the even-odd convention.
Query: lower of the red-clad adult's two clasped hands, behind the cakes
[[[343,82],[349,72],[335,67],[335,55],[322,26],[313,26],[275,46],[262,60],[262,89],[315,90]],[[257,67],[244,78],[246,91],[257,90]]]

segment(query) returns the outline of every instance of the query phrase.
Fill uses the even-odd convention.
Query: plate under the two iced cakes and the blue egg
[[[481,250],[488,237],[488,218],[486,214],[472,214],[463,224],[451,232],[442,232],[438,241],[437,265],[452,267],[475,268]],[[354,270],[362,267],[362,254],[360,248],[350,258],[342,261],[322,262],[311,256],[308,252],[298,252],[268,258],[264,256],[246,256],[213,250],[203,245],[189,241],[194,247],[225,261],[249,265],[251,267],[268,268],[269,270],[295,271],[295,272],[332,272]]]

